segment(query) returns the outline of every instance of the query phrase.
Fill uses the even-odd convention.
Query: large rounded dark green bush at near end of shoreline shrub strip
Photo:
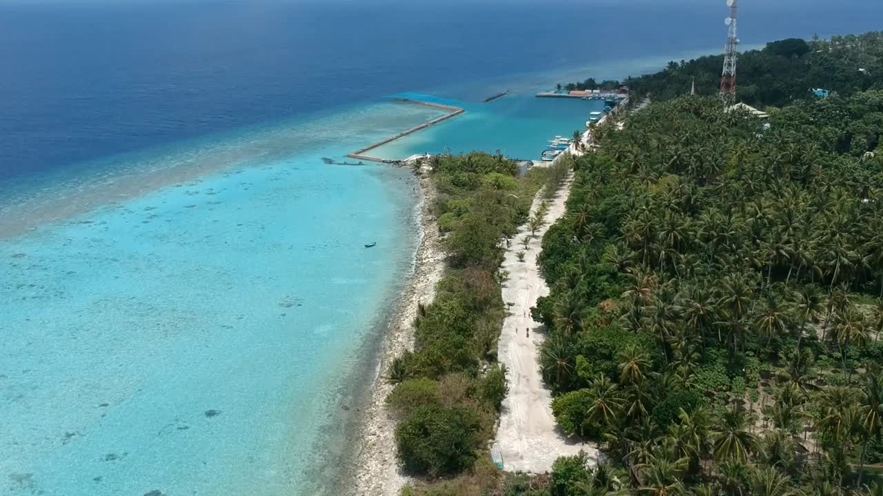
[[[413,475],[456,473],[476,459],[479,419],[470,409],[420,407],[396,428],[398,459]]]

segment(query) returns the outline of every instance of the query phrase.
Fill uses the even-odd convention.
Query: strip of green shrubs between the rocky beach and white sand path
[[[481,153],[435,156],[430,165],[448,267],[434,302],[419,309],[414,351],[389,368],[396,387],[388,402],[399,418],[404,471],[448,477],[403,491],[478,494],[498,485],[487,442],[507,393],[505,370],[496,363],[505,240],[528,220],[536,192],[546,183],[557,188],[564,175],[532,169],[517,177],[515,162]]]

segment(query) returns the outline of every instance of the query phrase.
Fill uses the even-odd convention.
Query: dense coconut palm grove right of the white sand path
[[[552,291],[533,312],[555,417],[605,462],[562,458],[505,494],[869,483],[883,462],[881,112],[880,90],[766,121],[688,96],[597,130],[543,239]]]

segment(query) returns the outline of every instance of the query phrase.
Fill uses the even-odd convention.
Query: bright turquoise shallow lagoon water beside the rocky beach
[[[0,493],[315,493],[339,455],[317,446],[410,270],[416,200],[406,169],[321,159],[434,115],[249,130],[216,172],[0,243]],[[198,144],[129,177],[234,147]],[[90,184],[55,191],[98,201]]]

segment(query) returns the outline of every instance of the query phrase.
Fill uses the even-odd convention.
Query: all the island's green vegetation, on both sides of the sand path
[[[743,54],[738,96],[762,121],[685,96],[693,79],[716,94],[721,64],[629,79],[654,103],[545,175],[555,191],[575,171],[543,238],[540,366],[562,431],[598,461],[500,483],[500,240],[540,179],[500,156],[434,159],[450,267],[389,402],[404,470],[449,477],[404,495],[883,494],[883,34]]]

